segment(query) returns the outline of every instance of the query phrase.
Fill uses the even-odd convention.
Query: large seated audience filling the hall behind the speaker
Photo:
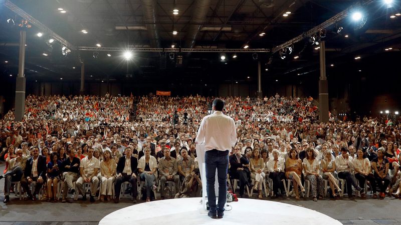
[[[134,203],[153,200],[156,192],[162,199],[200,196],[195,142],[213,99],[29,95],[22,122],[14,121],[13,110],[0,120],[4,202],[12,192],[31,200],[42,193],[47,201],[61,195],[62,202],[68,194],[86,200],[86,192],[92,202],[119,202],[127,191]],[[399,123],[333,116],[319,122],[311,97],[223,99],[237,126],[228,181],[233,192],[239,186],[239,197],[246,188],[259,198],[263,190],[272,198],[310,192],[314,201],[344,193],[401,197]]]

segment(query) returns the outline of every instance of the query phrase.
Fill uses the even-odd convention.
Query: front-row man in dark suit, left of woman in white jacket
[[[120,199],[121,183],[129,181],[132,185],[132,203],[136,203],[137,185],[136,185],[136,173],[138,166],[138,159],[132,156],[132,149],[130,147],[125,148],[125,155],[121,156],[117,163],[117,179],[114,184],[115,198],[114,202],[118,203]]]

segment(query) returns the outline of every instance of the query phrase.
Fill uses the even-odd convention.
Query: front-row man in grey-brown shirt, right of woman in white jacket
[[[170,156],[170,149],[164,148],[164,157],[159,159],[159,175],[160,175],[160,196],[164,199],[164,188],[166,181],[174,181],[175,192],[178,192],[179,176],[177,175],[177,163],[175,158]],[[172,190],[171,190],[172,191]]]

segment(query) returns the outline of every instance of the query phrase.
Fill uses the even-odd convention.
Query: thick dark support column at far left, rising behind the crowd
[[[15,120],[22,121],[25,113],[25,42],[26,31],[20,31],[20,58],[18,62],[18,76],[16,80]]]

